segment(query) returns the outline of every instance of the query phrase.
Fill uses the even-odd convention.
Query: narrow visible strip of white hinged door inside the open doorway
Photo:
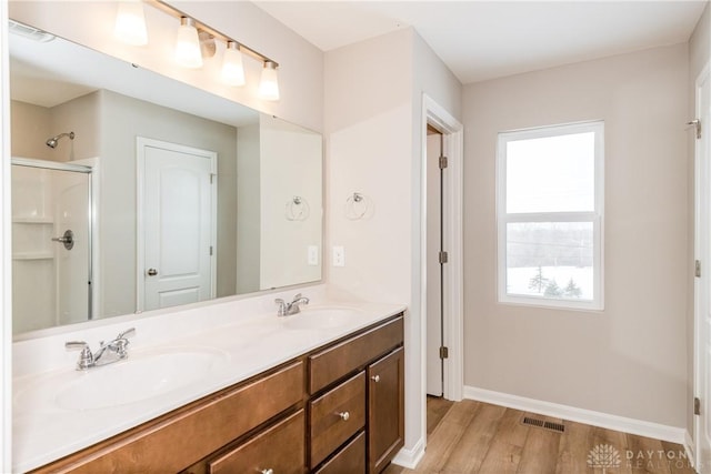
[[[443,394],[442,344],[442,193],[439,158],[441,134],[427,137],[427,393]]]

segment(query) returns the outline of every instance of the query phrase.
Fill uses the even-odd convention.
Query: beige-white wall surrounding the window
[[[685,427],[688,84],[679,44],[465,87],[467,385]],[[605,122],[605,309],[499,304],[497,133],[584,120]]]

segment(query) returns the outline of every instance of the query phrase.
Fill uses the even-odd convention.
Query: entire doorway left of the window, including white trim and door
[[[428,95],[422,113],[422,420],[427,394],[462,400],[463,127]]]

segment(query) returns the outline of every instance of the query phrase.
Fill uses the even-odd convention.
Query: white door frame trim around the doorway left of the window
[[[443,397],[461,401],[464,385],[463,364],[463,125],[454,119],[443,107],[428,94],[422,95],[421,123],[421,184],[420,184],[420,275],[421,292],[420,307],[420,346],[422,347],[420,366],[422,370],[422,397],[427,394],[427,125],[434,127],[442,133],[444,155],[448,158],[448,172],[444,173],[442,185],[443,205],[443,246],[449,253],[449,262],[444,265],[443,283],[444,317],[442,336],[449,349],[449,357],[444,362],[442,386]],[[427,404],[422,407],[423,433],[427,433]]]

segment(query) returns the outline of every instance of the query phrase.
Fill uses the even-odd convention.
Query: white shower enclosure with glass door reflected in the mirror
[[[12,326],[92,319],[92,168],[12,159]]]

